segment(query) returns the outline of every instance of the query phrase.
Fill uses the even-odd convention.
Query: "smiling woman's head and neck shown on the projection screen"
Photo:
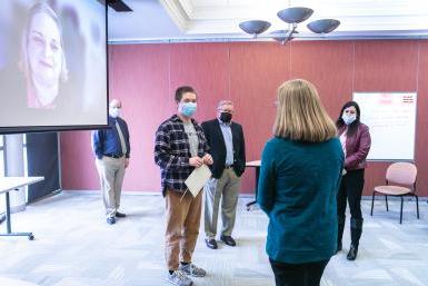
[[[68,80],[62,29],[47,3],[37,3],[23,28],[20,68],[27,80],[27,107],[54,109],[60,82]]]

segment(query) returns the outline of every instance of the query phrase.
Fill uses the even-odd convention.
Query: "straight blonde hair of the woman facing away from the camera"
[[[322,142],[336,137],[337,129],[313,85],[293,79],[278,88],[273,134],[290,140]]]

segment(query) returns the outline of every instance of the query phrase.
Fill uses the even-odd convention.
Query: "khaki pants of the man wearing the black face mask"
[[[237,214],[240,178],[232,168],[223,170],[219,179],[211,178],[205,186],[205,233],[216,238],[221,199],[221,235],[231,236]]]

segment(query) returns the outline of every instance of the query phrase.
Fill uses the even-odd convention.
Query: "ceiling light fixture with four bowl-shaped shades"
[[[277,30],[270,33],[270,37],[281,42],[282,45],[296,38],[297,24],[308,20],[313,13],[313,10],[306,7],[291,7],[278,11],[279,19],[289,24],[287,30]],[[308,29],[315,33],[329,33],[339,27],[340,21],[336,19],[319,19],[307,24]],[[259,33],[265,32],[270,27],[270,22],[261,20],[250,20],[239,23],[239,27],[255,38]]]

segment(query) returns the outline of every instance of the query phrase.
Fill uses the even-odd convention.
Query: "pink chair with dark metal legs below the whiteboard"
[[[388,211],[388,196],[400,197],[401,198],[401,208],[400,208],[400,224],[402,223],[402,203],[405,196],[416,197],[416,214],[419,219],[419,200],[416,195],[416,175],[418,170],[416,166],[411,162],[394,162],[387,169],[387,184],[386,186],[375,187],[375,190],[371,196],[371,211],[370,216],[374,215],[374,203],[375,195],[380,194],[385,195],[385,204]],[[401,185],[397,186],[395,184]],[[407,187],[404,187],[407,186]]]

